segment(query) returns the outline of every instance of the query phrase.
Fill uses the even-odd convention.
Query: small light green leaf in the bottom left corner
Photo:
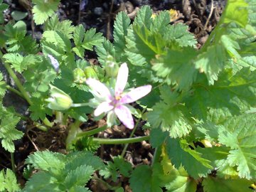
[[[20,187],[17,184],[17,179],[11,169],[6,169],[6,171],[0,171],[0,191],[15,192],[20,191]]]

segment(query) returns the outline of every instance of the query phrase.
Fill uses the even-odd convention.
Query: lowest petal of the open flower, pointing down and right
[[[134,128],[134,120],[132,118],[132,113],[124,105],[119,105],[114,108],[114,113],[117,114],[118,119],[124,124],[125,127],[129,129]]]

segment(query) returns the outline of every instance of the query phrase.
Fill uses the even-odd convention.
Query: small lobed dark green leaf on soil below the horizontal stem
[[[112,178],[114,182],[117,181],[119,174],[125,177],[130,176],[130,171],[132,171],[132,164],[124,161],[122,156],[115,156],[113,162],[108,162],[105,169],[100,170],[100,175],[104,178]]]

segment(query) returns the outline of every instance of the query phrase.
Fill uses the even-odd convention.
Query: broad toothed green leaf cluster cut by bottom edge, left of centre
[[[50,151],[37,151],[28,156],[26,164],[39,169],[26,183],[23,191],[87,191],[85,183],[104,164],[90,152],[73,152],[68,155]],[[42,182],[43,181],[43,182]]]

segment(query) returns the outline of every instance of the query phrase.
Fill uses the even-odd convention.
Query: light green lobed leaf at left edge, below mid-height
[[[14,140],[21,139],[23,137],[23,132],[18,131],[15,127],[20,121],[19,117],[16,117],[14,113],[3,106],[0,105],[0,139],[1,145],[6,149],[6,151],[14,152]]]

